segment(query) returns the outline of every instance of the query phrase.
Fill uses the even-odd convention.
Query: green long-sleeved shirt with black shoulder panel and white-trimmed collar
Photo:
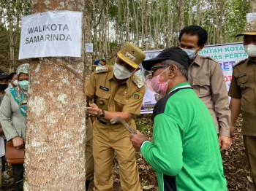
[[[227,190],[214,121],[189,83],[159,100],[153,117],[153,141],[141,152],[159,190]]]

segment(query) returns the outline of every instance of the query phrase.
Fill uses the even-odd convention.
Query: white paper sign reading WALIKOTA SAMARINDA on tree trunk
[[[42,12],[21,19],[19,59],[80,57],[82,12]]]

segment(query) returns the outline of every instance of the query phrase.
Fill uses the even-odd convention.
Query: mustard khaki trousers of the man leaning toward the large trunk
[[[126,128],[123,125],[103,125],[98,121],[95,121],[93,126],[94,190],[112,190],[114,152],[117,155],[122,190],[142,190],[135,149],[129,141]]]

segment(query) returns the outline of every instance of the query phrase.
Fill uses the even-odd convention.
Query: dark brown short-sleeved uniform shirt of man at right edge
[[[243,128],[241,134],[256,136],[256,62],[246,59],[233,68],[228,95],[241,99]]]

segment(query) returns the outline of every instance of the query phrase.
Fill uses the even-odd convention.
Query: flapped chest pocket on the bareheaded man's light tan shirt
[[[211,94],[211,87],[208,79],[194,79],[193,89],[198,97],[204,97]]]

